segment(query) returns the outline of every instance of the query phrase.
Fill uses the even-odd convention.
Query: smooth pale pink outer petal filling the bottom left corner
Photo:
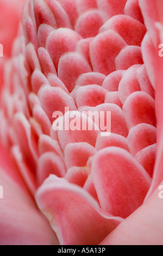
[[[37,210],[14,162],[0,146],[0,245],[55,245],[48,222]]]

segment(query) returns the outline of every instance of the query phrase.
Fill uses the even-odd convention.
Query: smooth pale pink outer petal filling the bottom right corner
[[[159,187],[151,197],[122,222],[101,245],[162,245],[163,204]]]

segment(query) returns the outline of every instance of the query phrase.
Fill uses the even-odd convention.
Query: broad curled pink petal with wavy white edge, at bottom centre
[[[122,221],[104,214],[83,188],[55,175],[39,188],[36,202],[57,233],[60,245],[97,245]]]

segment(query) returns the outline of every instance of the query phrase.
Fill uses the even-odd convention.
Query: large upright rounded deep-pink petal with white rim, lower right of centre
[[[123,218],[143,203],[151,185],[146,170],[122,148],[98,151],[91,173],[102,209]]]

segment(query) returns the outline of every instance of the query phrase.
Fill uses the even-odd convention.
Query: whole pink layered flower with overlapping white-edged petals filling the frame
[[[162,244],[160,4],[26,3],[0,111],[1,244]],[[82,111],[111,111],[111,135],[54,131],[65,107],[99,127]]]

